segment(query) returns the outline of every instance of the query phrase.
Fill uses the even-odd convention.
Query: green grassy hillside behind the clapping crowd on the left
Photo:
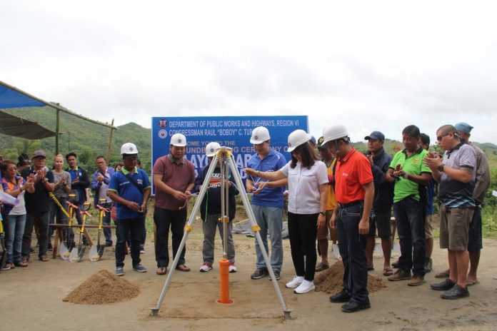
[[[15,108],[5,110],[8,113],[29,118],[37,121],[42,126],[55,131],[56,111],[49,107],[39,108]],[[97,118],[98,119],[98,118]],[[106,156],[109,143],[110,128],[84,121],[80,118],[61,113],[60,116],[59,149],[62,155],[70,151],[78,155],[78,163],[89,170],[95,170],[95,158],[99,155]],[[119,149],[123,143],[131,141],[139,149],[139,158],[144,170],[151,171],[151,129],[143,128],[136,123],[127,123],[119,126],[114,131],[111,145],[110,164],[119,163]],[[31,157],[37,149],[43,149],[47,154],[47,165],[51,165],[55,153],[55,137],[40,140],[28,140],[15,138],[0,134],[0,153],[4,158],[12,158],[15,161],[20,153],[26,153]]]

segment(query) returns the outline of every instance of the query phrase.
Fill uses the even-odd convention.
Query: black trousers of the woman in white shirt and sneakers
[[[290,238],[293,268],[295,268],[297,276],[303,276],[305,280],[309,281],[314,280],[316,268],[318,215],[318,213],[294,214],[288,212],[288,237]]]

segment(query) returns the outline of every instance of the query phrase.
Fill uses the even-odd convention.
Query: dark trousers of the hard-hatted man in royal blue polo
[[[140,235],[144,218],[127,218],[117,220],[117,243],[116,243],[116,267],[124,267],[126,256],[126,235],[131,233],[131,261],[133,266],[138,265],[140,260]]]

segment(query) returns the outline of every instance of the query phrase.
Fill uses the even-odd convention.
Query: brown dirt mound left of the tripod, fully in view
[[[124,278],[113,275],[107,270],[100,270],[76,287],[62,301],[102,305],[131,300],[139,292],[138,286],[131,284]]]

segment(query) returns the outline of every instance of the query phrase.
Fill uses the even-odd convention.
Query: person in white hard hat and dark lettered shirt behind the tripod
[[[216,156],[216,149],[221,147],[219,143],[213,142],[208,143],[206,146],[206,156],[209,159],[209,163],[199,172],[195,180],[195,190],[200,192],[204,181],[206,180],[207,172],[211,165],[214,156]],[[204,200],[200,205],[200,216],[203,220],[202,229],[204,230],[204,245],[202,247],[202,258],[204,259],[204,264],[200,267],[201,273],[206,273],[212,270],[212,264],[214,263],[214,238],[216,237],[216,228],[219,228],[219,235],[223,242],[224,247],[224,223],[221,222],[221,216],[223,210],[221,210],[221,194],[224,192],[224,186],[221,183],[221,158],[216,163],[216,168],[209,183],[206,183],[207,190],[204,195]],[[226,165],[228,166],[228,165]],[[231,173],[229,173],[229,178],[231,178]],[[233,242],[233,233],[231,233],[231,228],[233,227],[233,219],[236,213],[236,200],[235,196],[239,194],[238,188],[233,182],[225,179],[224,185],[229,185],[228,189],[228,205],[229,210],[225,215],[228,215],[229,222],[226,224],[226,258],[229,260],[229,272],[236,273],[235,265],[235,244]],[[225,205],[226,208],[226,205]]]

